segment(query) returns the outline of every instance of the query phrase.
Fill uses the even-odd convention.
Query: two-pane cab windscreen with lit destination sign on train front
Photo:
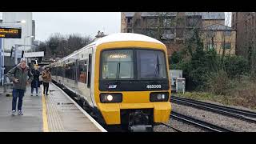
[[[167,78],[165,54],[160,50],[105,50],[101,70],[102,80]]]

